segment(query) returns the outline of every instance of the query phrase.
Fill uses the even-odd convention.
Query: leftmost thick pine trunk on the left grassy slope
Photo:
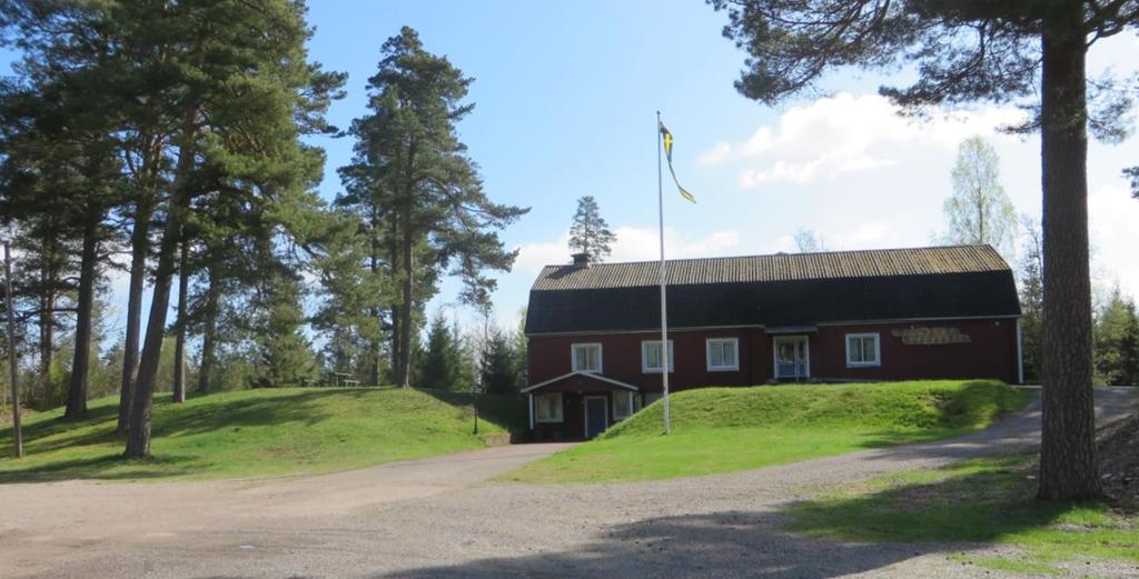
[[[99,249],[99,216],[87,215],[83,223],[83,254],[80,262],[79,300],[75,320],[75,356],[67,384],[64,417],[87,416],[87,386],[91,361],[91,314],[95,308],[95,273]]]

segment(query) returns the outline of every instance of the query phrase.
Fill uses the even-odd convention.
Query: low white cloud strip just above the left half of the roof
[[[617,237],[608,262],[646,262],[661,256],[659,237],[656,229],[621,226],[613,231]],[[570,232],[563,232],[551,241],[523,243],[518,248],[515,271],[536,272],[543,265],[570,263]],[[732,230],[715,231],[700,238],[678,233],[672,228],[664,229],[665,255],[670,259],[686,257],[715,257],[739,250],[739,233]]]

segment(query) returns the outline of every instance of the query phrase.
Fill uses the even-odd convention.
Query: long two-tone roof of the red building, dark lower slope
[[[1013,272],[989,246],[777,254],[669,262],[669,325],[1018,315]],[[550,265],[526,333],[661,326],[658,262]]]

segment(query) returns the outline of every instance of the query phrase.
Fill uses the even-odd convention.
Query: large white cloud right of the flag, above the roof
[[[952,150],[974,134],[993,134],[1021,113],[989,107],[970,113],[937,111],[928,119],[902,117],[878,94],[839,93],[788,109],[739,143],[716,143],[702,152],[705,166],[739,163],[741,188],[764,183],[806,184],[903,163],[915,151]]]

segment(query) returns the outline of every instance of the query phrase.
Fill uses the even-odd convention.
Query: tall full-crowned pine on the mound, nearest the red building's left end
[[[354,156],[341,175],[368,208],[364,228],[375,250],[385,253],[382,267],[396,288],[388,308],[392,369],[395,383],[407,387],[417,312],[437,280],[457,275],[460,301],[484,300],[495,287],[486,272],[509,271],[517,256],[498,231],[527,209],[490,200],[458,139],[456,124],[474,108],[462,102],[472,80],[424,50],[409,27],[380,52],[379,71],[368,80],[369,115],[352,123]]]

